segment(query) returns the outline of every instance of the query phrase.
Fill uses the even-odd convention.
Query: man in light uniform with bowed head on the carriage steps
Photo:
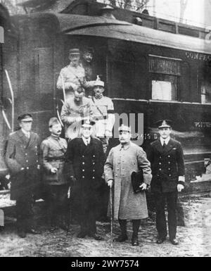
[[[92,115],[92,102],[84,96],[82,88],[78,87],[74,92],[74,96],[64,103],[60,113],[60,118],[65,124],[65,137],[67,139],[79,137],[82,120],[92,118]]]

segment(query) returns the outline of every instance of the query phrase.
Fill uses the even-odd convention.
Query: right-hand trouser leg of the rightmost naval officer
[[[177,192],[167,193],[168,227],[170,240],[177,234]]]

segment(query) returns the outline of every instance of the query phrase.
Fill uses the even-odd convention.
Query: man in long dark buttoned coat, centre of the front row
[[[101,204],[98,190],[102,182],[104,155],[101,141],[91,137],[93,124],[89,120],[83,122],[82,138],[68,142],[66,160],[72,163],[75,178],[73,201],[81,227],[77,237],[84,238],[88,235],[102,240],[96,234],[96,218]]]

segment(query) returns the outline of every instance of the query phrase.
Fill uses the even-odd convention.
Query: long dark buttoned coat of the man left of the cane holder
[[[75,177],[73,194],[77,208],[98,209],[100,204],[98,193],[103,182],[101,177],[104,165],[101,141],[91,138],[88,146],[84,144],[82,138],[69,141],[65,160],[72,165]]]

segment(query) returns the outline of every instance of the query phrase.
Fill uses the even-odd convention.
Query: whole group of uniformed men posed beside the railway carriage
[[[67,94],[60,115],[66,139],[60,138],[60,121],[51,118],[51,135],[40,145],[38,135],[31,132],[32,115],[28,113],[20,115],[20,130],[9,136],[6,163],[12,176],[11,199],[16,200],[18,234],[25,237],[27,232],[39,233],[33,226],[32,203],[40,187],[37,180],[42,175],[51,232],[58,224],[65,227],[69,194],[79,219],[77,237],[103,239],[96,232],[96,220],[104,182],[113,194],[111,213],[120,222],[121,234],[115,241],[127,240],[127,220],[132,220],[132,246],[139,246],[141,219],[148,217],[145,191],[151,185],[155,193],[157,243],[162,244],[167,237],[167,200],[170,241],[178,244],[177,193],[184,188],[184,158],[181,144],[170,139],[170,121],[158,122],[160,139],[151,144],[148,156],[140,146],[132,143],[130,127],[121,125],[120,144],[106,157],[115,123],[113,101],[103,96],[104,82],[100,78],[87,80],[91,76],[90,67],[88,65],[89,74],[86,75],[79,60],[79,50],[71,49],[70,65],[61,70],[58,78],[58,88]],[[93,96],[87,98],[85,92],[90,88]],[[139,170],[143,172],[142,190],[135,194],[131,175]]]

